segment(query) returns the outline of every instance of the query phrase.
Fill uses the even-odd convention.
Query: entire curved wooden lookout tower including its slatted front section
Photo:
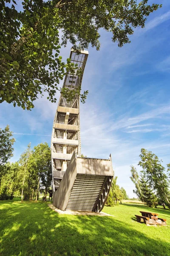
[[[63,87],[71,90],[81,85],[87,58],[88,51],[77,54],[71,50],[71,62],[78,64],[82,73],[68,73]],[[100,212],[113,178],[111,156],[105,160],[80,154],[79,98],[68,102],[61,94],[51,136],[53,204],[62,210]]]

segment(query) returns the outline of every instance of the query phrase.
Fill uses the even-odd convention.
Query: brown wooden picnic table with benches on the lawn
[[[156,224],[156,225],[166,225],[166,219],[158,218],[158,213],[155,212],[143,212],[142,216],[135,215],[138,222],[144,222],[145,224]]]

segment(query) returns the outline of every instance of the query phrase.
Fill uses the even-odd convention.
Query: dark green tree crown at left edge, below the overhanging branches
[[[12,147],[15,139],[12,137],[12,132],[9,130],[9,125],[5,129],[0,128],[0,166],[7,163],[8,159],[13,156]]]

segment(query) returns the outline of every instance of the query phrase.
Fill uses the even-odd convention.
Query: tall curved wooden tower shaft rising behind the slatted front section
[[[82,68],[82,74],[78,77],[68,73],[65,76],[63,87],[71,90],[81,85],[87,58],[88,51],[82,51],[77,55],[71,50],[71,62]],[[53,192],[58,189],[74,151],[80,156],[79,99],[74,98],[71,102],[67,102],[60,95],[51,136]]]

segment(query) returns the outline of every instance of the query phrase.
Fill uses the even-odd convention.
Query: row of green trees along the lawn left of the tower
[[[37,201],[39,192],[45,198],[51,188],[51,150],[47,143],[40,143],[31,149],[31,143],[15,163],[8,162],[13,156],[14,138],[7,126],[0,129],[0,200],[21,197]],[[2,153],[1,153],[2,152]],[[4,157],[5,156],[5,157]]]

